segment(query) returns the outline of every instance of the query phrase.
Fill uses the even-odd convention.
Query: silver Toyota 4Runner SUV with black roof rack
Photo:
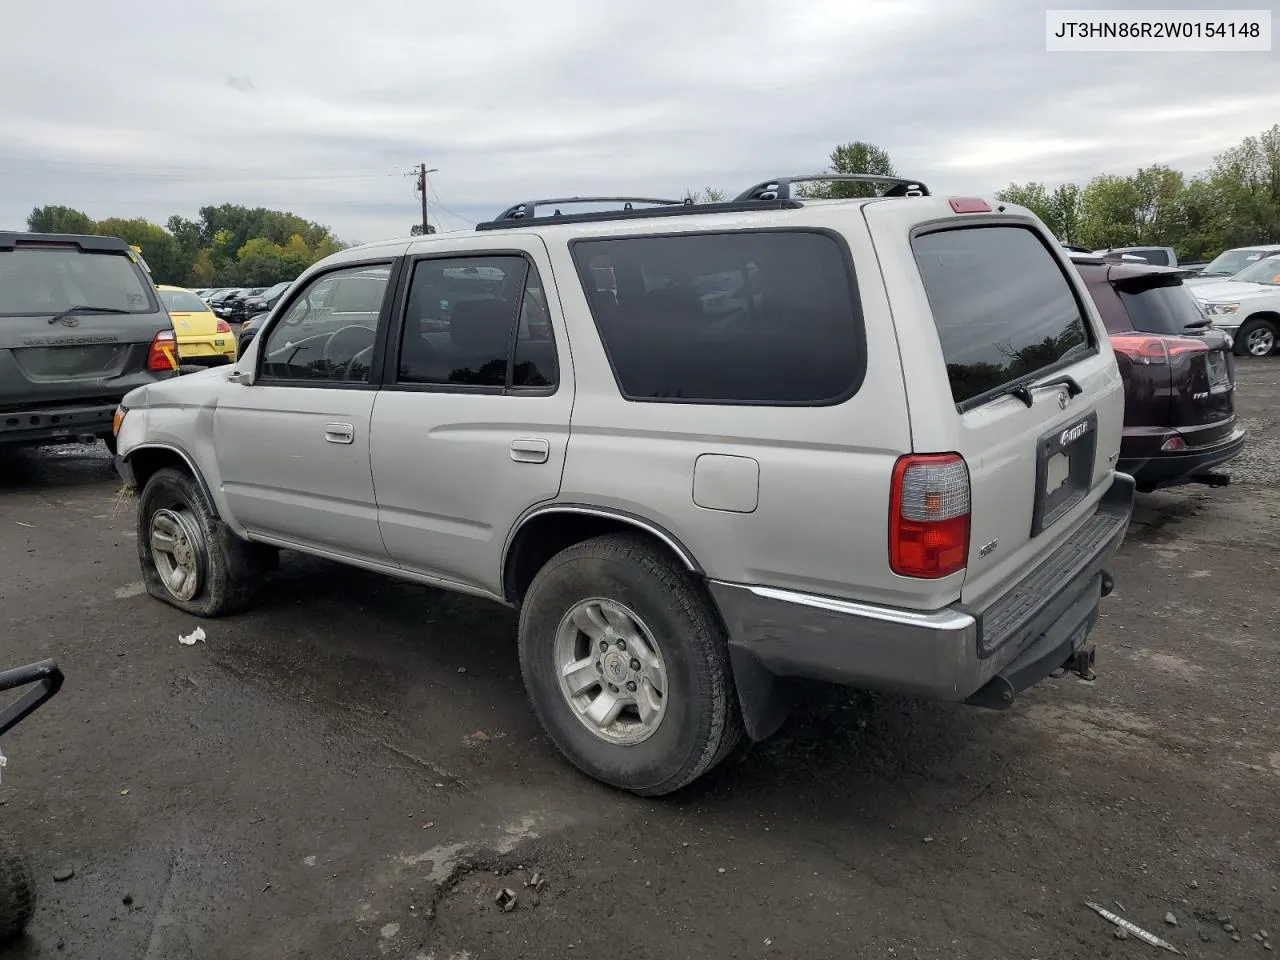
[[[1021,207],[804,179],[316,264],[234,367],[125,398],[147,589],[229,613],[287,548],[517,607],[547,733],[644,795],[792,677],[1092,677],[1134,484],[1088,292]]]

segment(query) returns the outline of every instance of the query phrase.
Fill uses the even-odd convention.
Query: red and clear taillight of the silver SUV
[[[901,457],[890,490],[888,566],[937,580],[969,556],[969,467],[955,453]]]

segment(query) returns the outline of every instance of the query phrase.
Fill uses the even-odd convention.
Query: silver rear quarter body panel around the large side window
[[[699,218],[690,229],[714,229],[724,219]],[[760,219],[750,225],[762,227]],[[890,481],[895,461],[910,448],[910,424],[888,303],[858,207],[778,211],[768,225],[828,228],[849,243],[869,357],[858,393],[827,407],[627,401],[570,250],[554,243],[577,378],[561,499],[627,511],[660,525],[712,579],[872,603],[940,605],[945,600],[922,596],[915,584],[904,589],[888,570]],[[598,236],[640,232],[635,224],[602,225]],[[759,463],[754,509],[708,509],[695,502],[695,462],[704,454]],[[741,461],[713,463],[723,472],[699,467],[698,500],[705,502],[708,488],[722,479],[724,503],[750,508],[744,486],[754,471],[740,470]],[[946,599],[954,599],[954,589]]]

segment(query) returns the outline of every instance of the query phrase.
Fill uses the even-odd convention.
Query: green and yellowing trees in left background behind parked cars
[[[119,237],[142,251],[156,283],[184,287],[269,287],[294,279],[346,246],[328,227],[296,214],[237,204],[202,206],[196,220],[174,215],[165,227],[142,218],[93,220],[67,206],[37,206],[27,229]]]

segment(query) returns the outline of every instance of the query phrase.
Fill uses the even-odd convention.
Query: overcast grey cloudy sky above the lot
[[[236,202],[371,241],[419,219],[419,161],[462,229],[536,196],[736,192],[850,140],[943,193],[1196,172],[1280,120],[1280,52],[1044,51],[1046,6],[1174,3],[10,3],[0,228]]]

